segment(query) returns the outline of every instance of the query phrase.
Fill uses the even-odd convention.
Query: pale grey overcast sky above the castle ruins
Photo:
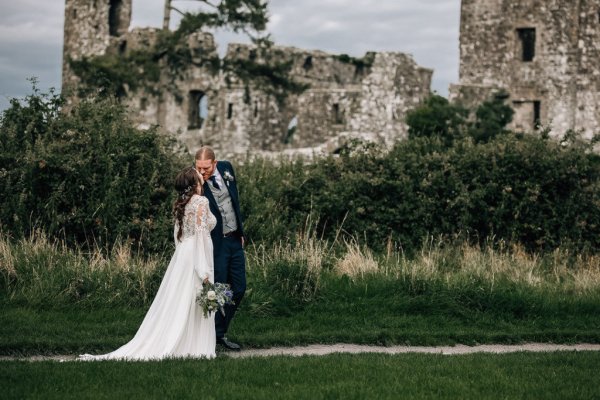
[[[173,5],[197,7],[189,0]],[[163,6],[164,0],[133,0],[131,27],[160,26]],[[460,0],[270,0],[269,14],[276,44],[355,57],[408,53],[434,69],[432,90],[444,96],[458,81]],[[63,22],[63,0],[0,0],[0,110],[31,92],[28,77],[44,91],[60,90]],[[217,33],[220,53],[227,41],[241,40]]]

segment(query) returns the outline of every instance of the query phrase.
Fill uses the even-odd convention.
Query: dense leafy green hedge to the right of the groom
[[[303,230],[312,215],[324,238],[341,229],[378,250],[397,243],[410,251],[429,235],[461,235],[530,250],[598,251],[600,157],[563,144],[507,133],[448,147],[425,137],[389,153],[365,146],[313,163],[250,162],[238,172],[248,233],[276,242]]]

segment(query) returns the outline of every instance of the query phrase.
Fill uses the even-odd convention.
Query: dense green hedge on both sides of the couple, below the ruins
[[[135,129],[112,100],[82,102],[68,113],[62,106],[60,97],[34,91],[0,118],[1,229],[170,249],[172,181],[191,156],[155,129]],[[485,107],[507,115],[499,102]],[[316,230],[329,240],[358,236],[378,250],[391,243],[410,251],[442,235],[599,251],[598,154],[573,134],[558,142],[507,132],[506,117],[484,135],[485,115],[471,125],[450,118],[451,129],[423,125],[443,129],[411,135],[389,152],[355,143],[310,163],[236,162],[249,238],[273,243]]]

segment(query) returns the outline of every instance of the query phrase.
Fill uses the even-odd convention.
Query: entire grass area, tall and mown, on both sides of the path
[[[598,256],[430,243],[410,258],[299,238],[248,250],[229,337],[311,343],[600,343]],[[103,353],[136,332],[164,259],[0,240],[0,355]],[[2,398],[596,399],[600,353],[1,361]]]

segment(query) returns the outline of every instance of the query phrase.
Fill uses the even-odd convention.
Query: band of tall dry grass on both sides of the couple
[[[39,232],[17,241],[0,235],[0,300],[33,306],[149,304],[168,259],[144,257],[127,242],[105,253],[73,250]],[[265,307],[273,291],[311,301],[324,279],[339,276],[398,281],[408,288],[432,283],[449,291],[494,292],[518,285],[547,294],[600,293],[600,255],[565,249],[540,255],[518,245],[479,247],[430,239],[411,257],[393,246],[376,255],[356,238],[329,243],[305,229],[293,240],[250,245],[247,259],[250,293],[254,290],[255,303]]]

